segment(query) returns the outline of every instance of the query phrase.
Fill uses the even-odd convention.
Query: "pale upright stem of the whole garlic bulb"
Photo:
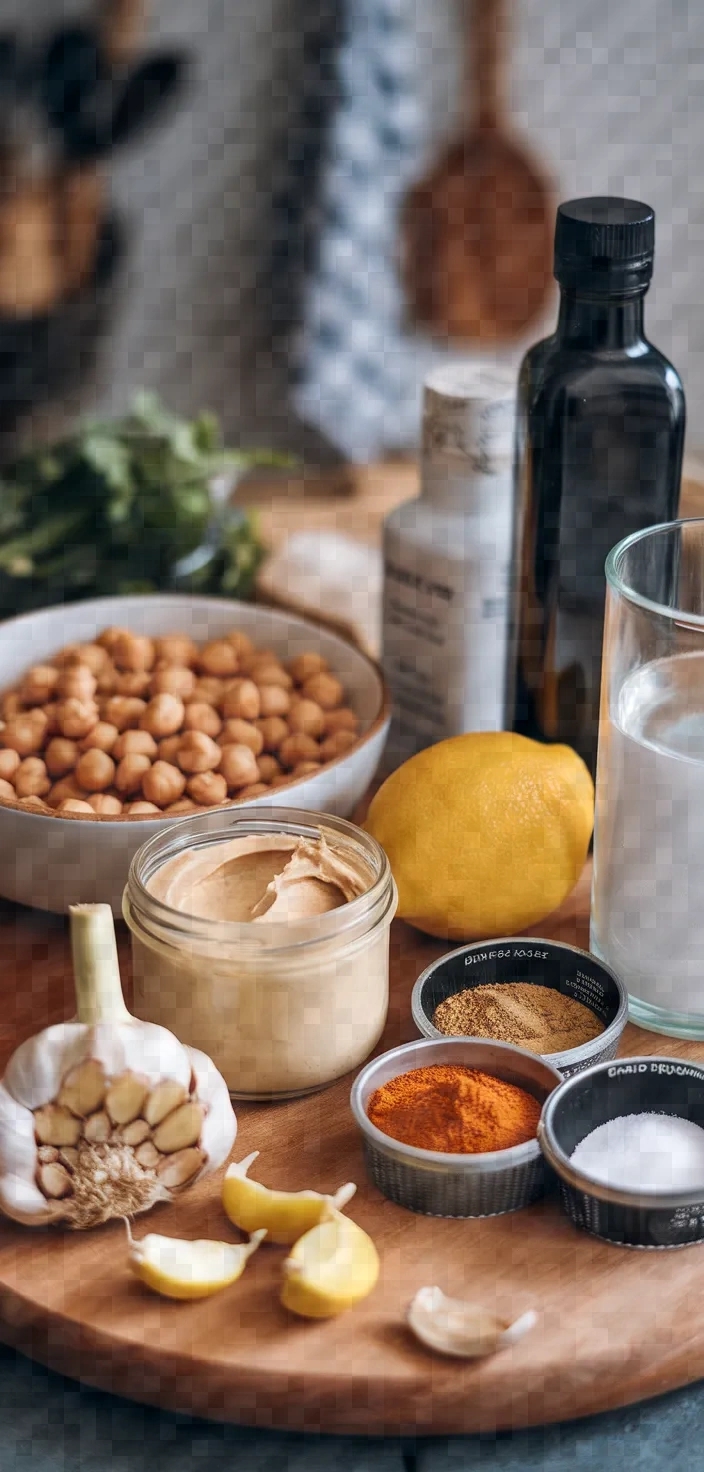
[[[109,905],[69,905],[77,1019],[131,1022],[119,980],[115,921]]]

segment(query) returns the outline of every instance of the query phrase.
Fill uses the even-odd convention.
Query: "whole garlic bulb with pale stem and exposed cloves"
[[[110,907],[69,913],[77,1019],[22,1042],[0,1083],[0,1210],[27,1226],[147,1211],[237,1132],[211,1058],[128,1013]]]

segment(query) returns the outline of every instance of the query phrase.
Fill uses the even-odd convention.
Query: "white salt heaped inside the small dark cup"
[[[704,1188],[704,1129],[675,1114],[620,1114],[573,1151],[585,1176],[627,1191]]]

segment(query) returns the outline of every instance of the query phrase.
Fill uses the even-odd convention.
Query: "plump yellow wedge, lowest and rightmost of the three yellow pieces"
[[[286,1259],[281,1303],[303,1319],[330,1319],[365,1298],[377,1278],[371,1236],[336,1213],[299,1238]]]

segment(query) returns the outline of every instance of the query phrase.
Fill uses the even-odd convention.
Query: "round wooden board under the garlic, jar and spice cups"
[[[588,944],[589,876],[541,935]],[[0,1048],[71,1011],[62,920],[0,907]],[[121,938],[128,973],[127,936]],[[443,951],[396,923],[383,1047],[409,1041],[418,972]],[[629,1026],[623,1052],[704,1058],[704,1044]],[[0,1226],[0,1340],[91,1385],[169,1410],[296,1431],[430,1434],[585,1416],[704,1375],[704,1247],[638,1253],[577,1232],[557,1201],[486,1220],[414,1216],[365,1182],[351,1078],[275,1105],[240,1105],[236,1157],[261,1151],[268,1185],[330,1191],[356,1181],[351,1214],[374,1236],[373,1295],[324,1323],[278,1306],[284,1248],[262,1248],[230,1289],[200,1303],[153,1297],[127,1270],[125,1234]],[[236,1239],[219,1179],[137,1222],[137,1235]],[[429,1354],[404,1326],[423,1284],[499,1314],[535,1307],[536,1329],[482,1363]]]

